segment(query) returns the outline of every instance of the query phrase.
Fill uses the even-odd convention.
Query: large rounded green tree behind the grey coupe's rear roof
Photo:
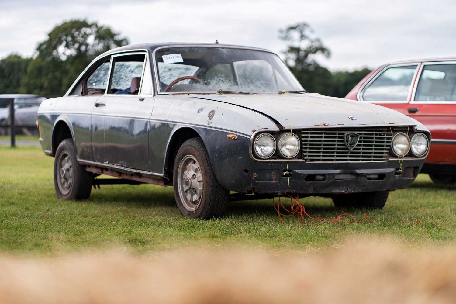
[[[127,44],[127,38],[119,37],[107,26],[86,20],[63,22],[36,47],[20,91],[62,95],[93,58]]]

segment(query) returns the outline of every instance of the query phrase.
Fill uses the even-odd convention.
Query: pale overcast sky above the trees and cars
[[[278,30],[307,22],[332,55],[335,70],[376,67],[421,57],[456,56],[455,0],[0,0],[0,58],[31,56],[54,26],[86,18],[130,43],[181,41],[242,44],[280,53]]]

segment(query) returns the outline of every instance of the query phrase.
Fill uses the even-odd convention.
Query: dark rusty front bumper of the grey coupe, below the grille
[[[378,162],[286,162],[251,161],[245,168],[231,169],[221,184],[231,191],[259,194],[294,193],[333,195],[404,189],[413,183],[424,160]],[[225,176],[226,177],[226,176]]]

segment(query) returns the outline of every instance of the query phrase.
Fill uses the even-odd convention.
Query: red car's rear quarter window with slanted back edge
[[[363,100],[406,101],[417,65],[389,67],[363,90]]]

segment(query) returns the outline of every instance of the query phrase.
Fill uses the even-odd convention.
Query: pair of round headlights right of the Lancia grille
[[[426,154],[428,146],[429,140],[423,133],[416,133],[410,140],[407,134],[399,132],[391,142],[391,149],[396,156],[404,156],[411,150],[414,156],[420,157]]]

